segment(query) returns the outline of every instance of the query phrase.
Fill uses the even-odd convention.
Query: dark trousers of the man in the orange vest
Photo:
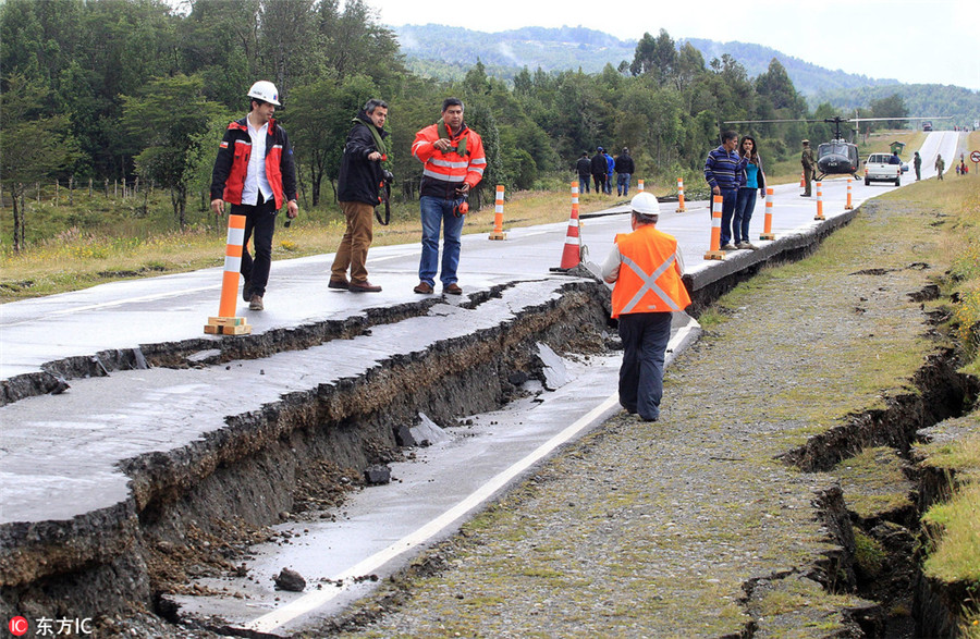
[[[627,312],[620,316],[623,365],[620,404],[644,419],[660,418],[663,360],[671,340],[671,312]]]

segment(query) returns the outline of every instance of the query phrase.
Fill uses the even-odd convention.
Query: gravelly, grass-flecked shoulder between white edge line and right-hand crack
[[[893,618],[910,607],[856,595],[833,468],[865,446],[901,457],[976,394],[923,300],[945,270],[934,221],[866,204],[723,297],[659,422],[614,417],[309,636],[910,636]]]

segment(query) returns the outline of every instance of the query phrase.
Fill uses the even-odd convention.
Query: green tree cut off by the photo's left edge
[[[64,115],[45,115],[49,89],[22,75],[7,77],[0,93],[0,176],[13,200],[13,249],[20,253],[26,239],[24,189],[50,180],[77,157],[77,145]]]

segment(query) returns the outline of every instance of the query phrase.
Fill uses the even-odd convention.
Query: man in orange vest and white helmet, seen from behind
[[[624,349],[620,404],[644,421],[657,421],[671,318],[690,305],[690,296],[681,280],[684,263],[677,241],[656,228],[657,198],[640,193],[629,205],[633,233],[616,235],[616,245],[602,265],[602,278],[615,282],[612,317],[620,320]]]

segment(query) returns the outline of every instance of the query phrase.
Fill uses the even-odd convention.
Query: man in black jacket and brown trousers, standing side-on
[[[381,202],[378,195],[384,181],[381,162],[388,160],[388,144],[384,142],[389,135],[384,131],[387,120],[388,105],[370,99],[354,118],[354,127],[347,134],[336,180],[336,196],[347,221],[347,230],[330,269],[330,288],[351,293],[381,291],[381,286],[368,282],[365,262],[373,238],[375,207]],[[350,282],[347,268],[351,269]]]

